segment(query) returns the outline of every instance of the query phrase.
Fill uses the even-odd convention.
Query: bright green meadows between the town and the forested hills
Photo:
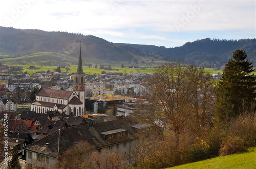
[[[105,61],[105,60],[99,60],[95,58],[82,58],[83,65],[89,65],[92,66],[83,66],[83,72],[89,75],[93,74],[100,74],[101,71],[109,72],[108,70],[99,69],[100,64],[104,66],[111,66],[111,68],[114,72],[121,72],[121,73],[129,73],[129,72],[140,72],[140,73],[153,73],[153,67],[157,67],[158,65],[162,65],[165,62],[161,60],[154,60],[153,58],[147,57],[147,58],[140,58],[138,56],[135,56],[137,60],[143,60],[146,63],[145,64],[139,64],[140,67],[147,67],[147,68],[140,68],[140,69],[129,69],[128,67],[131,65],[137,65],[134,62],[129,63],[128,61],[125,62],[116,62],[116,61]],[[154,60],[152,62],[152,60]],[[57,68],[59,65],[65,65],[66,67],[69,67],[68,73],[74,73],[77,71],[77,64],[78,58],[72,58],[66,54],[60,54],[60,53],[54,53],[54,52],[39,52],[39,53],[33,53],[29,55],[25,55],[23,57],[18,58],[6,58],[0,60],[1,64],[9,65],[9,66],[22,66],[24,68],[23,71],[19,72],[11,72],[10,74],[21,74],[25,71],[27,73],[32,74],[39,71],[53,71]],[[73,64],[64,64],[64,63],[73,63]],[[98,69],[95,69],[94,66],[97,64]],[[121,65],[124,64],[124,68],[121,68]],[[35,66],[37,69],[31,70],[29,69],[30,66]],[[117,70],[118,69],[118,70]],[[212,74],[212,73],[222,73],[221,70],[212,70],[209,68],[204,69],[205,72]],[[66,72],[65,68],[61,68],[61,72]],[[0,72],[0,74],[4,74]]]

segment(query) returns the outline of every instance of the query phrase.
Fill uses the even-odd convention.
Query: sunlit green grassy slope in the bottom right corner
[[[248,152],[211,158],[170,168],[256,168],[256,147]]]

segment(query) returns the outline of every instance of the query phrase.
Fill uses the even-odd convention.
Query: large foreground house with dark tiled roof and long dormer
[[[54,165],[69,147],[80,140],[88,142],[100,153],[119,151],[129,155],[134,133],[125,119],[59,129],[24,147],[27,165]]]

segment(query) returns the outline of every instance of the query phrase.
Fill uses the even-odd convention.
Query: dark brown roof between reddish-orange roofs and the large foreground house
[[[50,134],[58,129],[69,127],[66,122],[47,120],[41,129],[44,134]]]

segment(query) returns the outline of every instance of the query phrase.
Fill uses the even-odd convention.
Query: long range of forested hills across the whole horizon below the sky
[[[202,39],[187,42],[183,46],[164,46],[112,43],[92,36],[67,32],[20,30],[0,26],[0,50],[3,55],[27,55],[36,52],[58,52],[77,58],[79,44],[82,57],[111,61],[134,61],[143,59],[185,62],[201,67],[220,67],[232,57],[236,49],[244,49],[248,60],[256,63],[256,40]]]

